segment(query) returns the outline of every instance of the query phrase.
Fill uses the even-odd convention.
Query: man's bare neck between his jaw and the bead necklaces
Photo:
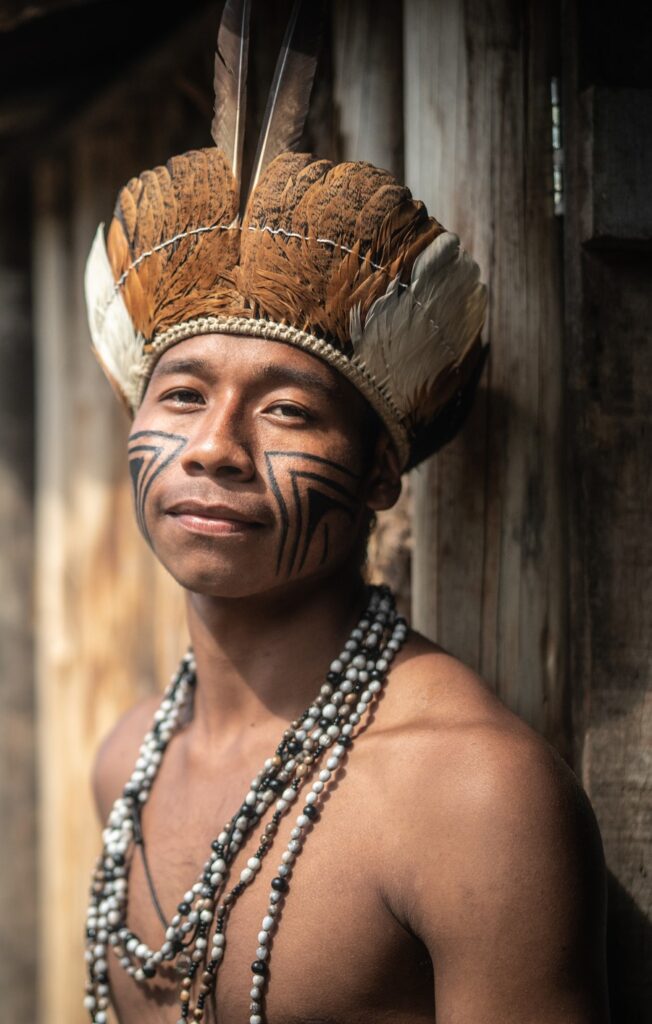
[[[364,606],[357,571],[255,598],[188,594],[197,660],[192,732],[202,746],[280,735],[319,692]]]

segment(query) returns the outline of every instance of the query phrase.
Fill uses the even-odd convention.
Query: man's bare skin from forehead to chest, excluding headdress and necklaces
[[[185,439],[140,510],[155,552],[186,590],[198,666],[194,715],[171,741],[143,814],[170,913],[252,766],[318,692],[361,610],[367,511],[389,507],[399,490],[387,435],[370,436],[364,407],[307,353],[213,335],[161,357],[137,414],[134,434]],[[318,458],[324,476],[346,470],[358,480],[354,528],[336,510],[325,560],[315,535],[303,567],[280,583],[270,451],[293,453],[297,467]],[[290,475],[280,480],[292,532],[298,506]],[[136,707],[100,750],[102,822],[158,702]],[[252,941],[277,859],[272,852],[260,888],[233,909],[208,1021],[248,1019]],[[571,772],[474,672],[410,633],[297,859],[267,1019],[602,1024],[603,918],[600,839]],[[129,925],[160,943],[137,858]],[[112,964],[111,985],[123,1024],[177,1021],[176,981],[149,992]]]

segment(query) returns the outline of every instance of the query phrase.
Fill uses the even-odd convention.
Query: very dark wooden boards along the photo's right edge
[[[633,222],[632,196],[623,196],[625,181],[614,180],[612,171],[620,164],[636,173],[652,158],[649,133],[631,131],[633,123],[646,117],[649,90],[627,89],[629,110],[623,126],[613,118],[614,102],[617,108],[623,98],[620,90],[596,90],[586,81],[580,88],[579,68],[586,53],[573,45],[583,38],[578,14],[579,5],[567,4],[565,291],[572,437],[573,733],[575,761],[598,817],[609,868],[612,1020],[644,1024],[652,1017],[652,256],[640,249],[646,207],[641,207],[639,230]],[[603,78],[621,74],[612,61],[629,35],[620,27],[612,49],[611,35],[604,34],[599,47],[605,60]],[[649,62],[647,84],[652,85]],[[597,111],[596,104],[604,102],[607,110]],[[611,144],[609,161],[598,167],[597,157]],[[594,177],[597,171],[600,178]],[[586,206],[595,202],[599,180],[611,181],[598,198],[599,222],[609,225],[602,239],[600,231],[586,229],[593,216]],[[596,248],[607,234],[618,241],[618,251]],[[591,244],[583,245],[585,241]]]

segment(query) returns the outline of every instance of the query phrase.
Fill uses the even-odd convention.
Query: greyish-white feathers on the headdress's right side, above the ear
[[[403,416],[419,418],[424,388],[462,360],[482,329],[486,289],[457,234],[438,234],[415,261],[409,286],[398,278],[361,328],[351,310],[354,354],[384,385]]]

